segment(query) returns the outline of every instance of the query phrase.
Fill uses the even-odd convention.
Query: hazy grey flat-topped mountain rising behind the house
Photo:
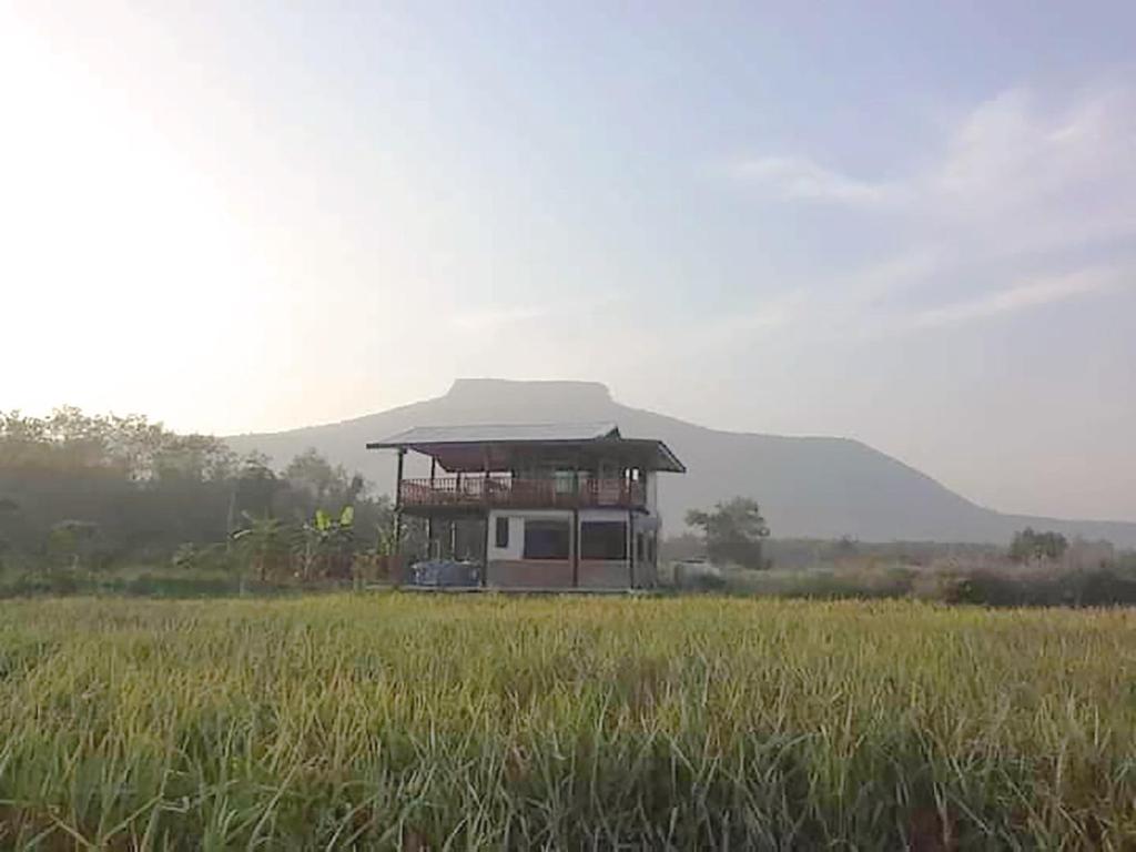
[[[685,476],[665,475],[660,484],[671,532],[682,528],[687,509],[741,494],[760,501],[780,537],[1004,543],[1031,525],[1136,546],[1136,524],[1003,515],[859,441],[719,432],[623,406],[591,382],[458,379],[444,396],[390,411],[226,440],[237,452],[260,450],[279,466],[314,446],[390,492],[393,453],[368,451],[368,441],[411,426],[585,420],[613,420],[626,437],[661,438],[685,462]],[[408,476],[416,473],[408,466]]]

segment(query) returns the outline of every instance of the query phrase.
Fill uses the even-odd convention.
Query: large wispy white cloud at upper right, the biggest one
[[[999,253],[1121,239],[1136,233],[1136,98],[1112,89],[1055,107],[1025,89],[1001,92],[892,182],[797,153],[755,157],[736,172],[785,200],[876,209]]]

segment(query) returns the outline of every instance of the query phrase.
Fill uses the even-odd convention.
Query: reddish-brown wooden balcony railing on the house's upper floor
[[[403,479],[402,508],[415,509],[644,509],[643,484],[627,479],[518,479],[438,476]]]

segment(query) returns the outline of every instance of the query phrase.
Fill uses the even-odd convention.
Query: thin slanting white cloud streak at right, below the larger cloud
[[[1127,278],[1130,279],[1130,275]],[[1081,269],[1067,275],[1038,278],[985,293],[975,299],[921,311],[912,318],[912,325],[949,326],[1000,314],[1012,314],[1051,302],[1114,290],[1125,279],[1126,275],[1117,269]]]

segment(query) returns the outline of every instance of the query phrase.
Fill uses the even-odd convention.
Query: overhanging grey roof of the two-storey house
[[[559,451],[566,463],[613,457],[648,470],[686,473],[665,443],[623,437],[613,423],[416,426],[367,444],[368,450],[415,450],[449,471],[509,470],[536,448],[545,454]]]

